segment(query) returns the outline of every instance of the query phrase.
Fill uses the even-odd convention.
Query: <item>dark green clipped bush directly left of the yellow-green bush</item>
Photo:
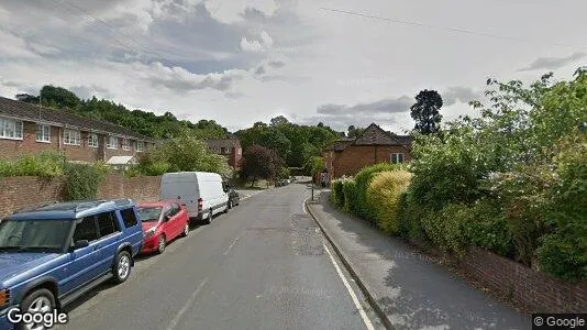
[[[389,172],[389,170],[397,170],[401,168],[399,165],[388,164],[388,163],[380,163],[376,164],[369,167],[363,168],[356,176],[355,176],[355,199],[354,204],[355,206],[355,216],[363,218],[372,223],[375,223],[376,221],[376,211],[374,209],[374,206],[369,205],[367,201],[367,188],[373,179],[373,177],[380,172]]]

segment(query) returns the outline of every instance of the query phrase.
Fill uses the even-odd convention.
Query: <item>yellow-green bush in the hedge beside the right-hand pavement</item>
[[[407,170],[380,172],[367,188],[367,205],[373,206],[377,226],[386,233],[399,231],[400,196],[410,184]]]

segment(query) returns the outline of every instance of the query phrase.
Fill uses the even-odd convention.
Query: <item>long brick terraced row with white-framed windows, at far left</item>
[[[123,127],[0,97],[0,160],[62,151],[73,162],[108,162],[154,144]]]

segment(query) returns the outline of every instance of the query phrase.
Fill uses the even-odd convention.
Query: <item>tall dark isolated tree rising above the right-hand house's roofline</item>
[[[416,120],[414,130],[421,134],[430,134],[439,131],[442,120],[440,109],[442,97],[435,90],[424,89],[416,96],[416,103],[410,108],[411,117]]]

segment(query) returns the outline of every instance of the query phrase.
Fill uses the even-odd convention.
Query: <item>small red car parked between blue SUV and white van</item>
[[[141,253],[163,253],[167,242],[189,233],[189,217],[185,205],[176,200],[154,201],[139,205],[143,222],[143,248]]]

